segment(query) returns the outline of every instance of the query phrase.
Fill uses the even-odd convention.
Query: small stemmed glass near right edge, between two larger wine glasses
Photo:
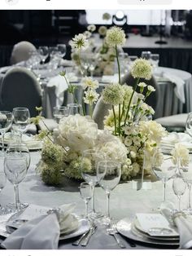
[[[185,193],[186,183],[177,175],[172,181],[172,190],[178,198],[179,201],[179,211],[181,211],[181,196]]]

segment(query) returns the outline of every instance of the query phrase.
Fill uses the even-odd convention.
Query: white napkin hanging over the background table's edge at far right
[[[180,99],[183,104],[185,104],[185,92],[184,92],[185,82],[181,79],[181,77],[177,77],[170,73],[164,72],[163,75],[164,75],[164,78],[167,78],[169,81],[171,81],[176,85],[174,89],[175,94],[177,95],[177,98]]]

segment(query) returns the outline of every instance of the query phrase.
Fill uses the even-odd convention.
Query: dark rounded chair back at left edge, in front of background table
[[[31,117],[41,106],[42,91],[37,77],[27,68],[11,68],[2,80],[1,108],[12,111],[16,107],[28,108]]]

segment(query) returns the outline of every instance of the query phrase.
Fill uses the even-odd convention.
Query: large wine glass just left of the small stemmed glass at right
[[[161,152],[159,148],[155,150],[152,157],[152,170],[155,176],[160,179],[163,183],[163,200],[166,200],[166,184],[169,179],[171,179],[174,174],[176,174],[177,166],[172,162],[172,156],[165,155]]]

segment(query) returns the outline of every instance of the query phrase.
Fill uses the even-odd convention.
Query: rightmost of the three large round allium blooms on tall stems
[[[151,79],[152,66],[148,60],[137,59],[133,62],[131,67],[131,74],[134,78]]]

